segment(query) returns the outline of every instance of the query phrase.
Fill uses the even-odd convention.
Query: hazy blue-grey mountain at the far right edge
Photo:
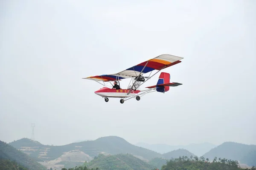
[[[256,145],[224,142],[204,154],[205,158],[213,160],[215,157],[237,160],[242,164],[256,166]]]

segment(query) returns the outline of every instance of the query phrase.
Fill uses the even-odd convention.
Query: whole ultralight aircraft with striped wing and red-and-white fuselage
[[[102,84],[104,87],[95,91],[94,93],[96,95],[101,96],[102,98],[105,98],[106,102],[108,102],[109,100],[108,98],[121,98],[120,99],[121,104],[123,104],[124,101],[129,100],[131,98],[136,98],[136,100],[139,101],[141,96],[149,92],[157,91],[157,92],[164,93],[169,91],[170,86],[182,85],[180,83],[175,83],[175,82],[170,83],[170,74],[167,72],[161,72],[156,85],[148,86],[148,87],[145,87],[148,89],[140,90],[140,86],[144,84],[146,81],[148,81],[148,79],[152,78],[161,70],[166,69],[169,66],[173,66],[177,63],[180,63],[181,59],[183,58],[177,57],[174,55],[163,54],[153,59],[150,59],[148,61],[144,61],[143,63],[137,64],[136,66],[132,66],[116,74],[96,75],[96,76],[90,76],[83,79],[94,80],[99,84],[102,84],[101,83],[102,81],[104,83]],[[157,70],[157,72],[151,75],[151,73],[155,70]],[[151,76],[149,75],[147,77],[144,77],[143,74],[148,72],[150,72]],[[126,89],[122,89],[119,81],[125,78],[131,78],[131,81],[128,84],[128,87]],[[105,82],[111,83],[112,81],[118,82],[121,89],[108,88]]]

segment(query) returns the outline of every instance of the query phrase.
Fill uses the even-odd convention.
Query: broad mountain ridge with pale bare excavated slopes
[[[13,141],[10,145],[29,154],[48,169],[61,169],[91,161],[100,153],[116,155],[130,153],[143,161],[163,157],[160,153],[130,144],[117,136],[107,136],[94,141],[82,141],[63,146],[44,145],[28,138]]]

